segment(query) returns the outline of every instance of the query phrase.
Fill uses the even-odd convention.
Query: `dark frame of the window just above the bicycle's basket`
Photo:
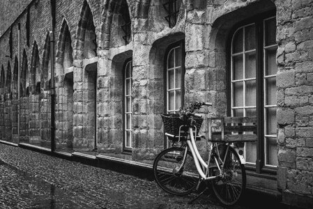
[[[171,52],[171,49],[174,49],[176,47],[181,47],[181,104],[184,105],[184,95],[185,95],[185,39],[179,40],[178,42],[174,42],[171,45],[168,45],[167,49],[165,50],[165,56],[164,56],[164,63],[163,63],[163,86],[164,86],[164,110],[163,112],[165,114],[168,114],[167,112],[167,60],[169,56],[169,52]],[[164,137],[164,148],[167,148],[168,146],[168,140],[167,137]]]

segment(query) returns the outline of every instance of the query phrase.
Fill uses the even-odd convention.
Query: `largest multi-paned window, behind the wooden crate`
[[[268,17],[231,39],[231,116],[258,116],[259,141],[245,143],[245,159],[259,168],[277,166],[275,35],[276,19]]]

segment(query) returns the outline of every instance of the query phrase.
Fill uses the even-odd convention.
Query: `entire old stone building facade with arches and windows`
[[[153,160],[168,146],[160,114],[212,102],[209,116],[257,116],[256,182],[312,207],[313,1],[1,4],[2,142]]]

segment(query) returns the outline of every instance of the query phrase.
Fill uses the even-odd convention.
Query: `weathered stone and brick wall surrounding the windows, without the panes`
[[[20,5],[29,2],[22,1]],[[27,71],[19,102],[5,88],[0,90],[1,140],[17,142],[16,116],[20,112],[20,142],[49,147],[49,79],[50,66],[54,64],[56,148],[122,153],[125,151],[123,65],[132,59],[132,149],[126,151],[132,154],[133,160],[153,159],[165,148],[160,114],[165,112],[167,47],[184,43],[185,102],[212,102],[213,107],[208,108],[210,116],[225,116],[229,112],[226,102],[230,91],[227,84],[229,35],[236,24],[276,10],[277,187],[284,202],[310,206],[313,196],[312,1],[185,0],[181,1],[176,25],[169,28],[163,1],[57,0],[56,63],[49,61],[49,1],[32,2],[29,45],[26,13],[12,17],[1,13],[6,20],[0,24],[3,77],[7,78],[8,69],[13,69],[13,58],[19,54],[19,22],[20,57],[17,60]],[[125,4],[128,10],[123,10]],[[21,11],[22,8],[17,9],[16,13]],[[123,15],[129,15],[131,20],[131,38],[126,43],[121,29],[125,23]],[[19,19],[14,22],[17,16]],[[4,33],[11,24],[13,58],[6,56],[10,49],[10,30]],[[0,80],[6,81],[2,75]],[[15,79],[10,82],[16,86]],[[39,82],[40,92],[36,90]],[[206,123],[201,132],[206,132]],[[207,146],[206,141],[199,144],[203,150]]]

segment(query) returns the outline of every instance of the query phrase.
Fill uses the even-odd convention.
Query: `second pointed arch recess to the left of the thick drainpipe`
[[[33,94],[40,93],[40,59],[36,40],[33,42],[33,50],[31,53],[31,70],[29,87]]]

